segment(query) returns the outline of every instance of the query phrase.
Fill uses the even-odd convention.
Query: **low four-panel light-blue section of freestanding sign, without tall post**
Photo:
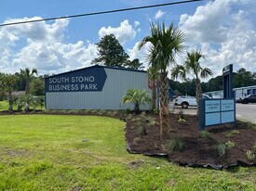
[[[199,129],[207,126],[236,121],[235,99],[201,99]]]

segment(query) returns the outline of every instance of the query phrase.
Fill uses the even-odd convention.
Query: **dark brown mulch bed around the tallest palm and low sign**
[[[153,118],[155,118],[155,124]],[[198,118],[184,115],[184,119],[185,121],[179,122],[178,114],[170,114],[169,121],[172,128],[170,135],[161,140],[158,116],[129,116],[126,128],[128,151],[153,156],[167,155],[170,161],[181,165],[215,169],[256,164],[255,148],[253,151],[253,146],[256,145],[256,129],[253,124],[237,121],[235,125],[222,124],[208,127],[206,130],[209,131],[209,137],[203,138],[199,133]],[[141,131],[142,128],[144,132]],[[168,149],[168,144],[177,138],[182,140],[183,149],[171,151]],[[225,154],[220,157],[216,146],[228,141],[234,142],[235,147],[226,148]],[[254,152],[254,159],[247,159],[247,150]]]

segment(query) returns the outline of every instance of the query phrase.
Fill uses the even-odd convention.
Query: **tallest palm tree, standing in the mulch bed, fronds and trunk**
[[[148,60],[155,65],[160,73],[160,134],[168,137],[170,123],[168,121],[168,67],[175,62],[175,57],[182,53],[184,34],[173,24],[168,27],[164,23],[150,24],[151,35],[145,36],[139,44],[141,49],[147,43],[151,44]]]

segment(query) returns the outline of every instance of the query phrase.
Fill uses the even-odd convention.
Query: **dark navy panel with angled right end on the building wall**
[[[101,67],[74,70],[47,77],[46,92],[101,92],[106,78]]]

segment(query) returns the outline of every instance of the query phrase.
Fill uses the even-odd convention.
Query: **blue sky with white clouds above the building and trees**
[[[177,0],[179,1],[179,0]],[[0,23],[84,14],[174,0],[1,0]],[[150,22],[174,23],[185,33],[185,51],[201,49],[203,67],[222,75],[222,68],[256,71],[256,1],[204,0],[107,15],[57,19],[0,27],[0,72],[36,68],[39,75],[57,74],[91,66],[98,57],[95,45],[106,34],[115,34],[129,59],[145,67],[149,45],[138,50],[150,35]],[[177,63],[185,60],[185,51]],[[171,66],[170,66],[171,69]]]

